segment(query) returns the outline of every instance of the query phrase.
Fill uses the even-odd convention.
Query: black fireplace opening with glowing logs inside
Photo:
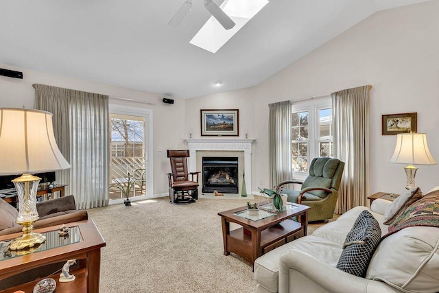
[[[238,194],[238,158],[237,157],[203,157],[202,192],[213,191],[225,194]]]

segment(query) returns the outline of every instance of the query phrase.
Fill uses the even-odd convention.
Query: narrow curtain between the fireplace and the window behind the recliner
[[[292,179],[291,131],[292,106],[290,101],[269,104],[270,179],[272,186]]]

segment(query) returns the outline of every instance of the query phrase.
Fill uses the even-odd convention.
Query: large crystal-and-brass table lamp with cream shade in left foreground
[[[56,145],[51,113],[0,108],[0,175],[23,174],[12,180],[19,198],[16,223],[23,226],[23,235],[10,242],[11,250],[45,242],[43,235],[32,231],[32,223],[38,220],[36,191],[41,178],[31,174],[70,167]]]

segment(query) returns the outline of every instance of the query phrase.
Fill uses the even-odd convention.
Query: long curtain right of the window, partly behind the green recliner
[[[344,161],[335,213],[366,205],[369,194],[369,92],[359,86],[332,93],[334,156]]]

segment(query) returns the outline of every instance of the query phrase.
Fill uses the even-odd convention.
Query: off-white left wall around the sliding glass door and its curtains
[[[47,84],[59,86],[66,89],[100,93],[115,97],[126,97],[141,101],[152,102],[154,105],[145,105],[133,102],[115,101],[110,99],[113,104],[123,104],[126,106],[143,107],[152,109],[153,112],[153,176],[154,176],[154,195],[167,194],[168,184],[166,173],[171,171],[169,159],[166,157],[166,150],[182,147],[182,133],[184,129],[185,101],[175,100],[175,104],[164,104],[161,95],[134,91],[118,86],[109,86],[64,78],[60,75],[48,74],[38,71],[1,65],[1,68],[23,71],[23,80],[0,76],[0,106],[1,107],[23,107],[34,108],[34,88],[32,84]],[[150,195],[149,195],[150,196]]]

